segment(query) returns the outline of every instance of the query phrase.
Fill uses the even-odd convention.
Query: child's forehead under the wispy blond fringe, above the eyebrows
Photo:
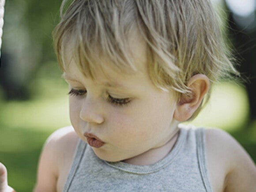
[[[147,65],[147,44],[143,37],[134,30],[127,40],[127,44],[123,47],[128,61],[119,62],[118,57],[122,57],[120,53],[109,54],[108,50],[102,50],[100,45],[90,47],[90,54],[79,52],[76,39],[70,38],[63,44],[63,67],[68,70],[70,63],[75,62],[80,65],[80,69],[92,70],[94,72],[123,72],[132,74],[133,72],[145,72]],[[103,53],[102,53],[103,52]],[[129,63],[128,63],[129,62]],[[130,65],[130,66],[129,66]],[[134,68],[132,68],[134,67]],[[130,68],[130,69],[129,69]],[[132,69],[132,70],[131,70]]]

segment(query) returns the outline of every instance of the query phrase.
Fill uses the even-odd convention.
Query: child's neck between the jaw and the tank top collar
[[[144,152],[143,154],[139,154],[133,158],[128,158],[125,159],[123,162],[129,163],[132,165],[139,165],[139,166],[144,166],[144,165],[151,165],[154,164],[163,158],[166,157],[167,154],[173,149],[178,136],[179,136],[179,131],[180,129],[177,127],[171,136],[171,139],[164,145],[158,148],[151,149],[149,151]]]

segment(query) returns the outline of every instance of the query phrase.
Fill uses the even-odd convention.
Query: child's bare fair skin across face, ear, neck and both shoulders
[[[199,107],[209,90],[209,80],[202,74],[193,76],[188,81],[193,97],[183,95],[177,101],[172,91],[160,90],[151,83],[145,47],[133,45],[138,71],[132,75],[104,68],[105,73],[97,72],[92,80],[79,71],[74,60],[66,66],[64,78],[72,94],[79,94],[69,99],[72,127],[57,130],[47,140],[35,192],[62,191],[78,139],[87,142],[84,132],[93,133],[105,143],[93,150],[107,161],[149,165],[172,150],[178,138],[178,123],[190,118]],[[213,191],[253,191],[256,169],[242,147],[217,129],[207,129],[206,140]]]

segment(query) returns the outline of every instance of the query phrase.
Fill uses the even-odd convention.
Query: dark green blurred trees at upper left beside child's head
[[[56,60],[52,30],[61,0],[8,0],[5,5],[0,86],[6,99],[28,99],[37,71]]]

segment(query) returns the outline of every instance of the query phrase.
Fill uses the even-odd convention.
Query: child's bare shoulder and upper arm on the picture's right
[[[230,134],[220,129],[206,129],[206,150],[214,191],[255,191],[255,164]]]

